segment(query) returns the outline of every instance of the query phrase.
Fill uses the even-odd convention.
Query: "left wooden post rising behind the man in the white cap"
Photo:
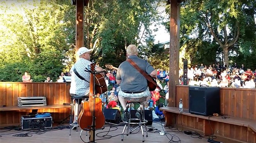
[[[76,0],[76,53],[84,46],[84,0]],[[76,54],[76,61],[79,59]]]

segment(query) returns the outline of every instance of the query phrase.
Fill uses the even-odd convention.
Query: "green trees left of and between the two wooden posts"
[[[94,48],[92,59],[118,67],[129,44],[152,45],[149,26],[161,20],[158,6],[152,0],[90,0],[84,42]],[[69,71],[76,58],[76,7],[70,1],[1,1],[0,8],[0,81],[21,81],[25,71],[35,82],[47,76],[55,81]],[[140,51],[151,51],[145,47]]]

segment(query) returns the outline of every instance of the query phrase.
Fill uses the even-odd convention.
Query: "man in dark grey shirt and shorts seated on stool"
[[[126,54],[128,59],[132,59],[138,67],[144,70],[147,74],[156,78],[157,71],[152,67],[152,65],[147,62],[147,60],[139,58],[138,49],[135,45],[129,45],[126,48]],[[147,104],[151,97],[149,88],[147,87],[147,79],[135,69],[130,62],[124,61],[119,65],[116,73],[116,83],[120,84],[120,89],[118,92],[118,98],[121,106],[124,110],[123,119],[128,117],[128,111],[126,110],[126,99],[125,98],[142,98],[147,97],[144,104]],[[136,117],[140,118],[140,113],[136,113]]]

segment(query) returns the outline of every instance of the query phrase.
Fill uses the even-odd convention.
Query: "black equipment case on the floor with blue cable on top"
[[[21,116],[21,129],[51,128],[52,117],[36,118],[36,115]]]

